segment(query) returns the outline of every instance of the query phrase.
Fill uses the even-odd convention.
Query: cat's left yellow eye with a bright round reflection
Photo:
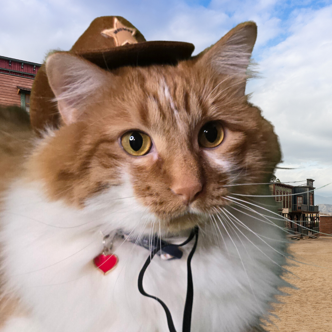
[[[127,131],[121,137],[121,144],[125,151],[133,156],[147,154],[152,146],[151,138],[141,131]]]

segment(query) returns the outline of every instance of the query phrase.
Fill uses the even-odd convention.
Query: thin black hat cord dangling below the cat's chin
[[[187,259],[187,296],[186,296],[186,303],[185,303],[185,308],[184,308],[184,312],[183,312],[183,325],[182,325],[182,332],[190,332],[190,328],[191,328],[191,313],[192,313],[192,308],[193,308],[193,298],[194,298],[194,287],[193,287],[193,276],[192,276],[192,272],[191,272],[191,259],[193,258],[194,252],[196,250],[197,247],[197,241],[198,241],[198,227],[196,226],[190,233],[188,239],[186,241],[184,241],[183,243],[179,244],[179,247],[182,247],[184,245],[186,245],[187,243],[189,243],[195,236],[195,243],[193,245],[193,248],[191,249],[189,255],[188,255],[188,259]],[[161,245],[158,248],[155,248],[151,254],[149,255],[149,257],[147,258],[147,260],[145,261],[141,271],[139,272],[138,275],[138,290],[140,291],[140,293],[144,296],[147,297],[151,297],[154,298],[155,300],[157,300],[162,307],[165,310],[166,313],[166,318],[167,318],[167,324],[168,324],[168,329],[170,332],[176,332],[175,327],[174,327],[174,323],[173,323],[173,319],[172,319],[172,315],[171,312],[169,311],[167,305],[157,296],[153,296],[148,294],[147,292],[145,292],[145,290],[143,289],[143,276],[144,273],[147,269],[147,267],[149,266],[149,264],[151,263],[152,258],[154,257],[154,255],[161,250],[163,247],[167,246],[167,244]]]

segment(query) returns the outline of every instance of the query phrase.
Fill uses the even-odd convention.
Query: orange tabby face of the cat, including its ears
[[[163,227],[187,228],[228,204],[225,196],[238,187],[226,184],[266,182],[280,152],[273,127],[244,95],[254,40],[242,30],[177,66],[110,73],[66,53],[49,57],[65,125],[46,139],[33,167],[50,198],[83,208],[126,185]],[[234,49],[238,59],[227,66]]]

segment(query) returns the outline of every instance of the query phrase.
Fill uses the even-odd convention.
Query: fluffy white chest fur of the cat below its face
[[[1,216],[6,290],[18,295],[30,311],[27,326],[37,322],[43,332],[167,332],[160,304],[137,288],[149,254],[146,249],[117,240],[113,248],[119,263],[106,276],[92,263],[102,250],[101,231],[125,225],[138,235],[145,209],[131,199],[127,205],[119,200],[108,211],[104,205],[98,209],[96,203],[79,211],[61,202],[46,202],[38,188],[12,189]],[[237,332],[255,326],[283,285],[278,265],[285,260],[277,252],[284,249],[281,230],[241,213],[238,218],[265,236],[265,243],[239,225],[242,234],[225,224],[228,236],[220,224],[224,240],[217,228],[207,226],[200,232],[192,260],[192,332]],[[179,332],[191,247],[192,243],[186,245],[181,260],[163,261],[156,256],[143,281],[148,293],[167,304]],[[8,324],[6,332],[16,331],[17,320]]]

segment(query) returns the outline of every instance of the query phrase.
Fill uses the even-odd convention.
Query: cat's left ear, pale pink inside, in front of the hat
[[[103,69],[66,52],[48,56],[46,73],[65,124],[74,123],[82,116],[89,97],[107,80]]]

